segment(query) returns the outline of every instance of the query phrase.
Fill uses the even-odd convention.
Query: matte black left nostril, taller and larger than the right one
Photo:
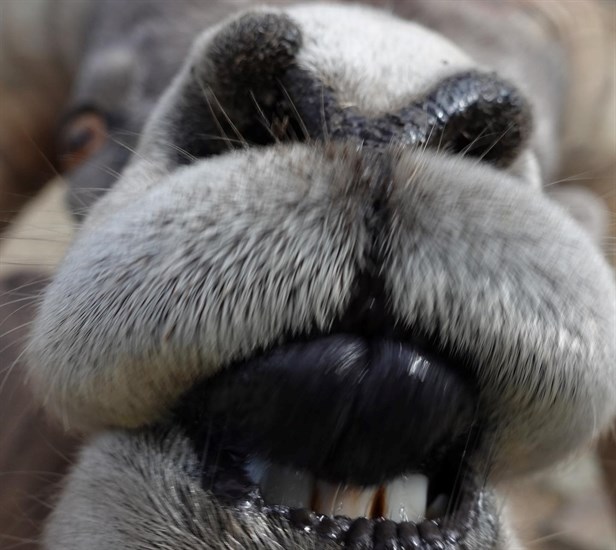
[[[280,79],[302,43],[297,25],[280,13],[248,13],[224,26],[193,59],[169,125],[176,161],[286,140]],[[282,128],[281,128],[282,126]]]

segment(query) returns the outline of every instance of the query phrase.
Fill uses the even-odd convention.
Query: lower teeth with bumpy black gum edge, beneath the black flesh
[[[223,505],[287,521],[345,548],[432,549],[456,545],[473,528],[482,497],[464,463],[438,474],[408,473],[362,487],[220,453],[202,480]]]

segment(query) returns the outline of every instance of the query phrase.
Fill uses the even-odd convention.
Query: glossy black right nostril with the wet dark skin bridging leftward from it
[[[494,73],[445,78],[406,107],[374,118],[340,107],[333,91],[301,70],[287,86],[313,138],[326,128],[329,139],[355,139],[373,149],[422,145],[507,167],[532,132],[528,102]]]

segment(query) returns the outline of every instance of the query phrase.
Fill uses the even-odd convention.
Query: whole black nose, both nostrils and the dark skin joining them
[[[530,135],[525,99],[493,73],[453,75],[378,116],[343,106],[344,90],[297,63],[303,39],[279,13],[249,13],[223,27],[196,61],[173,121],[178,160],[284,141],[351,140],[372,149],[438,147],[507,166]]]

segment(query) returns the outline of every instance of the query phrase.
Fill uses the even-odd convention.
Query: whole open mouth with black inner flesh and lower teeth
[[[402,339],[330,334],[232,365],[177,418],[222,506],[345,548],[458,547],[483,486],[465,372]]]

